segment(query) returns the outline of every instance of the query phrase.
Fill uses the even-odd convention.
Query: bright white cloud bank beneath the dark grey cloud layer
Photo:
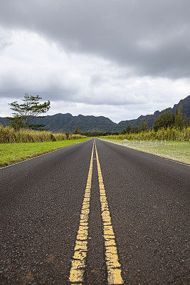
[[[48,100],[93,105],[139,104],[146,100],[127,92],[126,70],[109,61],[68,55],[33,32],[12,31],[10,36],[11,46],[0,54],[1,97],[22,98],[27,92]]]

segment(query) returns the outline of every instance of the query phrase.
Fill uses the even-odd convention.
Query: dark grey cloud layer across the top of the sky
[[[128,66],[134,75],[190,75],[189,0],[6,0],[0,24],[36,31],[68,51]]]

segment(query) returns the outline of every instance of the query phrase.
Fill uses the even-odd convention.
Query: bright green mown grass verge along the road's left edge
[[[58,150],[68,145],[89,140],[81,138],[78,140],[60,140],[57,142],[21,142],[21,143],[1,143],[0,144],[0,167],[11,165],[30,157],[43,155],[43,153]]]

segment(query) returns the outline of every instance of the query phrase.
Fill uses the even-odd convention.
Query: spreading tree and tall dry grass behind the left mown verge
[[[55,142],[59,140],[76,140],[86,138],[81,135],[76,126],[75,132],[70,134],[52,133],[46,130],[45,125],[35,124],[36,118],[43,118],[41,114],[48,112],[51,108],[50,101],[40,103],[41,97],[38,95],[28,95],[25,93],[22,103],[17,101],[9,103],[13,117],[7,117],[9,126],[4,127],[0,124],[0,143],[14,142]]]

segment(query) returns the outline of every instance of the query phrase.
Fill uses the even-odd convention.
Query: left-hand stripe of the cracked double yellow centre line
[[[85,271],[85,259],[87,256],[87,246],[88,246],[88,217],[90,213],[90,190],[93,175],[93,154],[94,145],[90,159],[90,167],[88,171],[88,179],[85,188],[85,195],[83,199],[83,206],[80,213],[80,224],[77,234],[77,239],[75,242],[75,249],[73,260],[70,269],[69,281],[70,284],[83,284],[83,274]]]

